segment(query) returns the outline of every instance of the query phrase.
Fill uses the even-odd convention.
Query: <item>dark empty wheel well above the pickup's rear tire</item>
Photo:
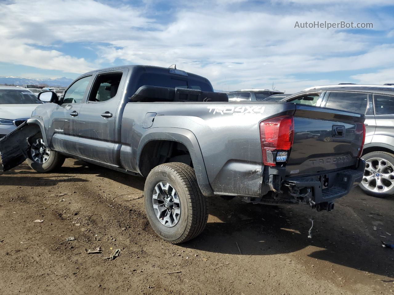
[[[181,142],[152,140],[141,151],[139,171],[146,177],[154,167],[169,162],[181,162],[193,167],[188,148]]]

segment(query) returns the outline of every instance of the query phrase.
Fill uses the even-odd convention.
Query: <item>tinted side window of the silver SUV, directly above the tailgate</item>
[[[330,92],[325,107],[365,114],[368,94],[354,92]]]

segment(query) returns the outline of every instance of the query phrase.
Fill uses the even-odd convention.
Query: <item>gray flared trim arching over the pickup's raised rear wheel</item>
[[[206,174],[203,154],[201,153],[197,138],[190,130],[175,127],[156,127],[149,129],[139,142],[136,161],[138,163],[138,170],[141,152],[144,146],[152,140],[171,140],[184,144],[190,153],[201,192],[207,197],[214,196],[214,192],[208,181],[208,175]],[[138,172],[141,173],[141,171]]]

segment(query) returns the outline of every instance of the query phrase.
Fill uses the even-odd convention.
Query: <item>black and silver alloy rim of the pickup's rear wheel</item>
[[[161,181],[156,184],[152,194],[153,210],[156,217],[166,227],[175,226],[180,218],[180,201],[175,188]]]

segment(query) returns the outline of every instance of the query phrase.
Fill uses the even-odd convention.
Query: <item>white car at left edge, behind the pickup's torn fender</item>
[[[42,102],[28,89],[0,86],[0,138],[25,122]]]

